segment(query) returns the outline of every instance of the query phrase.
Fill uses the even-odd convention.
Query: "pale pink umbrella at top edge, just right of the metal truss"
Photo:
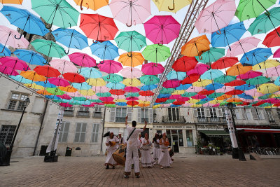
[[[195,27],[199,33],[217,32],[221,34],[221,28],[229,25],[235,16],[235,1],[220,0],[204,8],[198,15]]]

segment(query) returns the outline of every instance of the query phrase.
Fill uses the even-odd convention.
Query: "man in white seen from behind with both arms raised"
[[[132,127],[127,125],[127,118],[125,117],[125,125],[127,127],[128,137],[127,137],[127,153],[125,160],[125,178],[128,178],[131,173],[131,165],[132,165],[132,157],[134,160],[134,173],[137,178],[140,177],[140,169],[139,169],[139,155],[138,155],[138,141],[137,137],[140,132],[146,130],[147,123],[145,121],[145,126],[143,129],[137,129],[136,121],[132,121]]]

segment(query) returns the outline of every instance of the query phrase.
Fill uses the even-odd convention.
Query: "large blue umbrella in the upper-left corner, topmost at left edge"
[[[13,6],[3,6],[0,12],[11,24],[29,34],[45,36],[45,34],[49,32],[40,18],[25,9],[15,8]],[[22,34],[20,34],[19,38],[15,36],[15,39],[21,39],[21,37]]]

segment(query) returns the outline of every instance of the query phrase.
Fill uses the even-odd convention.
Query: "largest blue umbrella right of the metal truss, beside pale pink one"
[[[216,32],[212,33],[211,44],[213,47],[225,47],[230,46],[231,43],[239,41],[241,36],[246,32],[243,22],[237,22],[232,25],[228,25],[221,29],[221,34]],[[230,48],[231,50],[231,48]]]

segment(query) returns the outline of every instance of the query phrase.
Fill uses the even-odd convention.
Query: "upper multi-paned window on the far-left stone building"
[[[8,110],[23,111],[25,108],[24,101],[27,99],[28,95],[22,93],[12,93],[10,96],[10,101],[8,102]]]

